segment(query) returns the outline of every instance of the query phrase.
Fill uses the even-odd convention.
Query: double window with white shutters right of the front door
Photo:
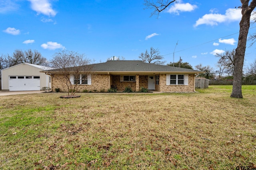
[[[188,74],[166,74],[166,85],[188,85]]]

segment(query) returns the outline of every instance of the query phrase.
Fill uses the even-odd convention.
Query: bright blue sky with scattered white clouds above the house
[[[157,18],[144,9],[144,0],[0,0],[0,55],[36,49],[50,60],[67,49],[99,63],[113,56],[138,60],[153,47],[167,63],[174,56],[193,67],[215,67],[215,53],[237,47],[240,5],[240,0],[179,0]],[[256,58],[256,45],[249,45],[245,67]]]

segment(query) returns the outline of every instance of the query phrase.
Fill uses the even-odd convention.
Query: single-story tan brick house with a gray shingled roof
[[[80,78],[70,75],[72,83],[82,83],[78,92],[83,90],[100,92],[111,87],[123,91],[126,86],[130,86],[133,91],[137,92],[140,91],[141,87],[159,92],[195,92],[195,76],[198,73],[203,73],[198,70],[142,61],[107,61],[89,66],[91,72],[88,75],[84,75],[82,72]],[[58,69],[41,72],[52,75],[53,90],[60,88],[61,92],[68,91],[65,80],[54,78],[60,74]],[[84,79],[86,80],[84,81]]]

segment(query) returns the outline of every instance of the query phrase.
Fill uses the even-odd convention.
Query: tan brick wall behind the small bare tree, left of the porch
[[[58,76],[58,77],[56,77]],[[55,88],[60,88],[60,92],[68,92],[68,87],[65,84],[65,80],[61,80],[61,76],[55,74],[52,78],[52,90]],[[109,89],[108,87],[108,74],[92,74],[92,85],[81,84],[78,88],[78,92],[82,92],[83,90],[87,90],[88,92],[95,90],[100,92],[101,90],[105,90],[105,92]]]

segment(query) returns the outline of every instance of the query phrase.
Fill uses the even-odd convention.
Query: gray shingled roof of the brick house
[[[144,63],[136,60],[119,60],[107,61],[106,63],[92,64],[93,72],[186,72],[186,73],[202,73],[202,71],[192,70],[188,68],[178,68],[173,66],[164,66],[159,64]],[[47,72],[55,72],[55,70],[47,70]],[[46,71],[43,71],[46,72]]]

